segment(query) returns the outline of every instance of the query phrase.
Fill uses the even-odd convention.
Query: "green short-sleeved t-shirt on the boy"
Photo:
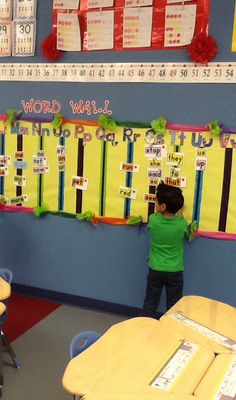
[[[178,272],[184,269],[184,237],[187,235],[186,219],[162,214],[149,217],[148,230],[151,245],[148,266],[158,271]]]

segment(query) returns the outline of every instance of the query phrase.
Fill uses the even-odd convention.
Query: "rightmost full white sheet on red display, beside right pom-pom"
[[[196,23],[196,4],[166,6],[165,47],[190,44]]]

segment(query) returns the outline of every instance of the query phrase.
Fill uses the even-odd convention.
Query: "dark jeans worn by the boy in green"
[[[183,294],[183,271],[164,272],[149,268],[143,315],[156,317],[163,287],[166,289],[166,308],[171,308]]]

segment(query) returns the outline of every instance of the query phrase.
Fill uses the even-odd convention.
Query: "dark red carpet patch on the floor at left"
[[[13,293],[8,300],[8,316],[3,325],[9,342],[28,331],[58,307],[60,304],[52,301]]]

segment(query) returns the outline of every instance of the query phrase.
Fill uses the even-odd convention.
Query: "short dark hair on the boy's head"
[[[175,214],[184,205],[184,196],[182,190],[176,186],[166,185],[164,182],[159,183],[156,189],[156,198],[158,204],[165,204],[166,211]]]

